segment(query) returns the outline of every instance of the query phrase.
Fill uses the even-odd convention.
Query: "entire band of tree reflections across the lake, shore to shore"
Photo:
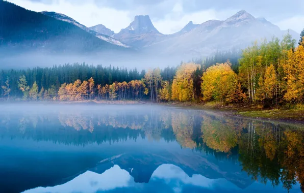
[[[304,131],[287,125],[204,111],[151,108],[0,116],[0,136],[85,145],[137,140],[176,140],[217,159],[239,160],[255,180],[290,189],[304,183]]]

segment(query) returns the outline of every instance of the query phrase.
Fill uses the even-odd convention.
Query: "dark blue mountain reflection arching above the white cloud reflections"
[[[12,143],[24,144],[18,141]],[[239,188],[245,188],[252,183],[251,178],[242,172],[242,168],[234,160],[227,159],[223,162],[211,154],[192,151],[188,148],[181,149],[176,142],[161,140],[150,144],[147,140],[138,140],[137,143],[139,143],[138,147],[131,144],[133,150],[123,148],[123,145],[129,146],[126,143],[111,146],[103,144],[97,146],[95,150],[89,147],[84,149],[82,146],[69,146],[62,150],[65,145],[58,144],[55,147],[58,148],[58,152],[53,149],[41,151],[41,148],[51,144],[50,142],[39,146],[33,142],[33,144],[27,144],[31,150],[24,152],[24,155],[12,150],[13,155],[5,158],[5,162],[13,163],[12,165],[0,163],[0,176],[2,176],[0,186],[5,192],[57,186],[71,181],[88,170],[102,174],[114,165],[129,172],[133,183],[149,182],[150,184],[153,183],[151,178],[157,168],[164,164],[178,166],[188,177],[201,175],[209,179],[225,179]],[[7,154],[4,153],[4,157],[10,156],[10,152]],[[113,156],[113,154],[120,156]],[[111,158],[103,158],[106,155]],[[16,160],[15,156],[27,157],[27,160]],[[100,160],[103,161],[100,162]],[[18,183],[18,186],[15,186],[15,183]]]

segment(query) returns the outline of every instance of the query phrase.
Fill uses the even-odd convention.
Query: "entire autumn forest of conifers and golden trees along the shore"
[[[304,40],[304,39],[303,39]],[[177,68],[142,70],[74,65],[6,70],[2,97],[23,100],[150,100],[280,106],[304,102],[304,41],[287,34],[235,53],[216,53]],[[226,57],[226,58],[224,58]],[[230,62],[233,60],[234,65]],[[222,62],[226,61],[226,62]],[[232,67],[237,68],[233,70]]]

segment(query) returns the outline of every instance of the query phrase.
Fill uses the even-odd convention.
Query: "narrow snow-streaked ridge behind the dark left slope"
[[[107,34],[102,34],[102,33],[98,33],[94,30],[91,30],[90,28],[86,27],[85,25],[83,24],[80,24],[79,22],[75,21],[74,19],[64,15],[64,14],[61,14],[61,13],[56,13],[56,12],[47,12],[47,11],[43,11],[43,12],[40,12],[41,14],[43,15],[46,15],[46,16],[49,16],[49,17],[54,17],[55,19],[58,19],[58,20],[61,20],[61,21],[65,21],[65,22],[68,22],[68,23],[71,23],[85,31],[87,31],[88,33],[92,34],[93,36],[96,36],[97,38],[99,39],[102,39],[106,42],[109,42],[110,44],[114,44],[114,45],[117,45],[117,46],[122,46],[122,47],[125,47],[125,48],[128,48],[130,46],[127,46],[121,42],[119,42],[118,40],[110,37],[109,35]],[[110,29],[109,29],[110,30]],[[114,32],[113,32],[114,33]]]

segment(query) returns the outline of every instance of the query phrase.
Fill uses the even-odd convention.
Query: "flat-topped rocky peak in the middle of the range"
[[[121,29],[118,34],[115,34],[114,38],[135,47],[144,47],[154,43],[163,36],[154,27],[149,16],[138,15],[135,16],[134,21],[128,27]]]

